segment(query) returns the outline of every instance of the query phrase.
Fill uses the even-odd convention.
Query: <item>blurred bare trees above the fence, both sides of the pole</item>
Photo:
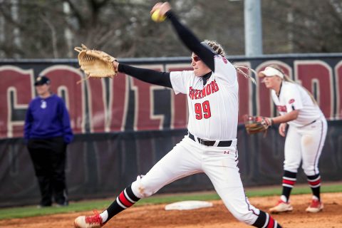
[[[156,24],[157,0],[0,0],[1,58],[75,58],[81,43],[119,58],[189,56],[170,23]],[[264,53],[342,51],[341,0],[263,0]],[[175,0],[200,39],[244,55],[244,2]],[[18,42],[20,41],[20,42]]]

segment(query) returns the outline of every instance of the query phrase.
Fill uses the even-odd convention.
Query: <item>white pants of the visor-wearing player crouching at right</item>
[[[302,161],[307,176],[319,173],[318,160],[326,140],[327,126],[326,118],[323,117],[301,128],[289,125],[285,140],[284,170],[298,172]]]

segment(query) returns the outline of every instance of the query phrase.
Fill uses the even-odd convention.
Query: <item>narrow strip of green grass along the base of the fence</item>
[[[342,192],[341,184],[323,185],[321,192]],[[292,195],[309,194],[311,189],[309,186],[296,186],[292,190]],[[280,195],[281,187],[266,187],[266,188],[251,188],[246,190],[248,197],[265,197],[272,195]],[[113,198],[114,199],[114,198]],[[105,209],[113,202],[113,199],[89,200],[81,202],[71,202],[68,207],[46,207],[37,208],[36,206],[30,207],[10,207],[0,209],[0,219],[13,219],[23,217],[34,217],[48,214],[60,214],[69,212],[82,212],[98,209],[99,211]],[[167,204],[183,200],[215,200],[219,199],[216,193],[184,193],[176,195],[155,195],[146,199],[141,199],[136,206],[147,204]]]

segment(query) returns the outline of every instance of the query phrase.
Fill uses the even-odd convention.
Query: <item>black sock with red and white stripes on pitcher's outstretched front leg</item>
[[[128,207],[131,207],[133,204],[138,202],[139,199],[140,198],[134,195],[131,186],[126,187],[125,190],[123,190],[123,192],[121,192],[115,201],[107,208],[108,219],[106,219],[104,222],[107,222],[109,219],[114,217],[115,214],[122,212]]]

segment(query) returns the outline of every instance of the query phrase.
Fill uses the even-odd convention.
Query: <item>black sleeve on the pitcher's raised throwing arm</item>
[[[170,19],[172,26],[175,28],[180,40],[202,59],[202,61],[212,70],[215,71],[214,66],[214,53],[209,48],[203,46],[199,39],[190,31],[187,27],[183,26],[180,21],[178,21],[175,14],[172,11],[167,11],[166,16]]]

